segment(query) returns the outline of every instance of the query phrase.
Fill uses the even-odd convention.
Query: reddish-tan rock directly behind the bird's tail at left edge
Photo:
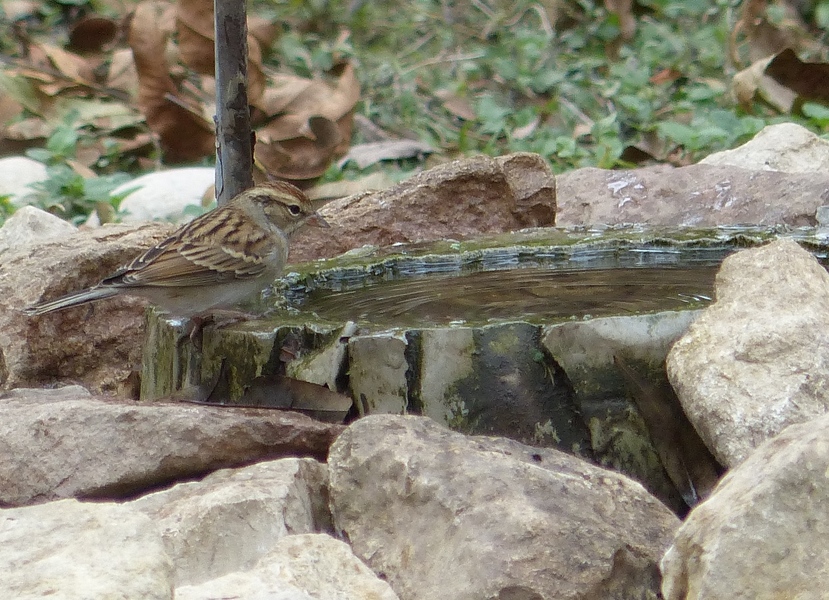
[[[115,225],[28,245],[0,261],[0,389],[82,383],[94,391],[135,395],[144,303],[105,300],[42,317],[20,309],[98,283],[160,242],[170,225]]]

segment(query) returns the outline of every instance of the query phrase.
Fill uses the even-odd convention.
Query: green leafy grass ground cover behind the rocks
[[[78,7],[106,13],[97,0],[48,0],[43,33],[60,30]],[[780,7],[769,4],[770,22],[782,22]],[[811,8],[806,22],[822,51],[829,0]],[[602,1],[413,0],[401,9],[389,0],[254,0],[249,7],[280,24],[270,66],[324,77],[337,61],[352,60],[362,84],[358,112],[392,136],[428,142],[438,150],[431,160],[529,151],[556,172],[631,167],[642,157],[688,164],[779,121],[825,133],[822,105],[782,115],[761,103],[736,104],[729,87],[738,67],[728,43],[739,10],[729,0],[639,0],[635,34],[620,41],[620,19]],[[4,52],[13,45],[0,36]],[[366,140],[355,131],[354,143]],[[101,190],[132,169],[111,157],[101,169],[110,178],[86,189],[67,166],[81,142],[75,123],[30,150],[50,167],[42,203],[49,198],[49,208],[73,220],[100,211]],[[415,160],[366,171],[332,165],[323,179],[377,169],[399,179],[422,167]]]

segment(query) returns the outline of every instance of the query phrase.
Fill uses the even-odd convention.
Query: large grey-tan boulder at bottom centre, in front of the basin
[[[329,458],[335,526],[405,600],[649,598],[679,521],[562,452],[372,415]]]

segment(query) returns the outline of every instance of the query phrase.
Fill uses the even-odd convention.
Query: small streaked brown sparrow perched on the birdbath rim
[[[260,184],[185,224],[97,285],[23,312],[44,315],[122,294],[181,318],[232,307],[282,274],[288,236],[306,223],[328,227],[299,188]]]

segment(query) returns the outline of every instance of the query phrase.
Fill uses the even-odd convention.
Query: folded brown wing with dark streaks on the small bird
[[[195,219],[104,283],[180,287],[261,275],[266,269],[269,234],[258,228],[251,231],[251,223],[232,205],[219,210],[219,214],[214,211]],[[243,225],[245,239],[239,235]],[[217,240],[222,240],[221,245]]]

